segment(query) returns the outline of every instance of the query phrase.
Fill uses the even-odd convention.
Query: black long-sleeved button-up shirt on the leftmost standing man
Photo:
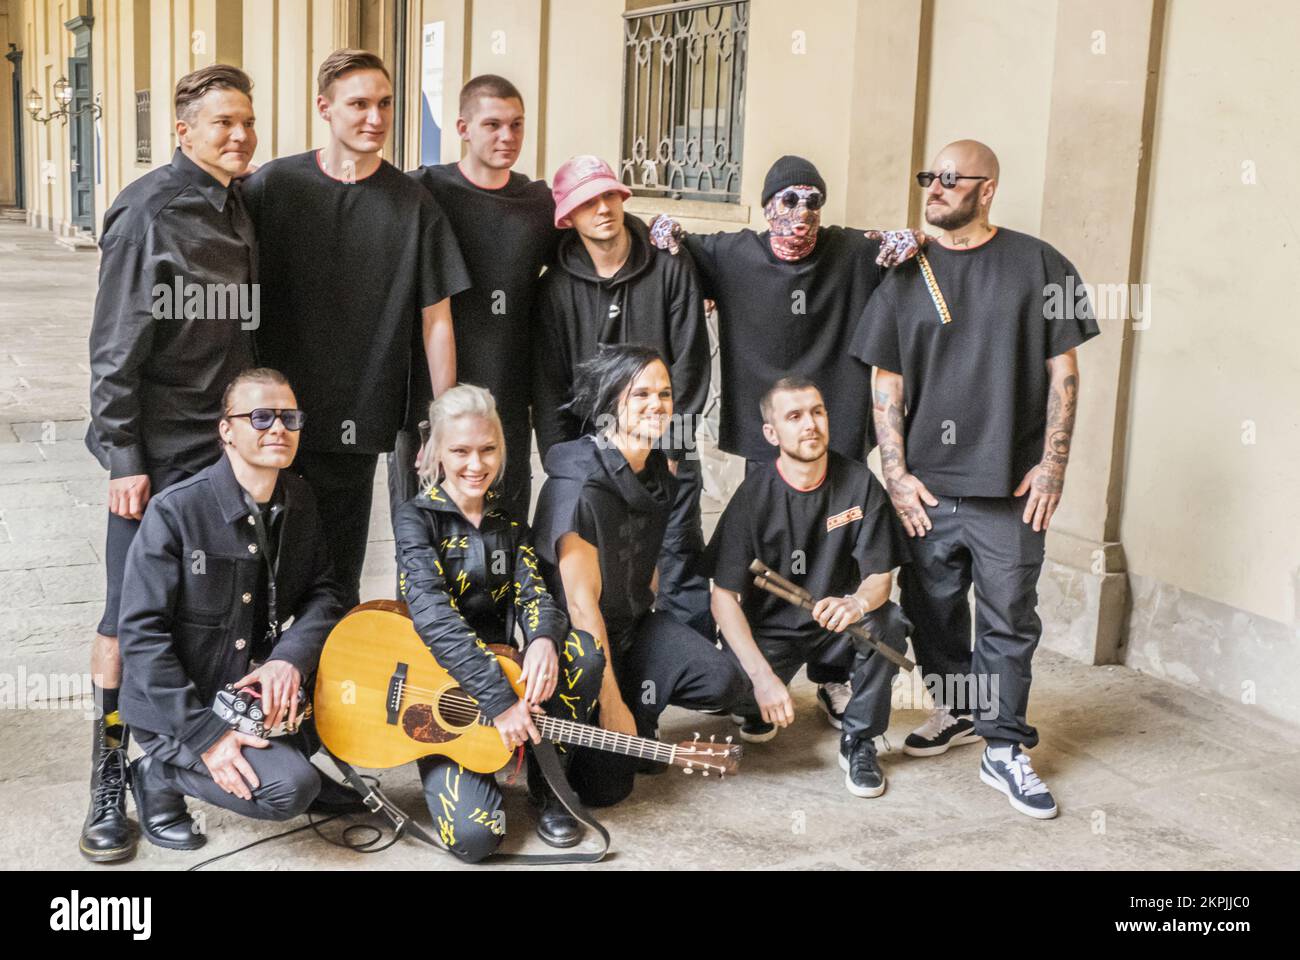
[[[177,150],[121,193],[100,248],[86,446],[114,477],[195,473],[220,454],[222,390],[254,366],[257,255],[239,186]]]

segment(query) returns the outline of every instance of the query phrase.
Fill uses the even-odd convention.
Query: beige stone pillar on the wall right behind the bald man
[[[1093,285],[1136,284],[1164,33],[1164,0],[1061,4],[1043,229]],[[1061,511],[1039,584],[1044,643],[1118,661],[1128,609],[1119,542],[1131,323],[1095,298],[1101,337],[1079,350],[1079,412]],[[1127,303],[1127,300],[1126,300]]]

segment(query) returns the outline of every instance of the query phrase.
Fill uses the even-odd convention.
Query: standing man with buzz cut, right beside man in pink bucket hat
[[[421,167],[407,176],[446,212],[469,271],[472,286],[451,298],[456,380],[485,386],[495,398],[510,450],[500,506],[511,516],[526,519],[533,447],[528,407],[537,353],[533,298],[560,237],[554,224],[555,202],[546,181],[511,170],[524,147],[524,98],[514,83],[493,74],[465,83],[456,130],[467,147],[459,163]],[[390,490],[395,480],[404,484],[395,493],[406,494],[398,503],[417,492],[413,462],[420,441],[415,427],[432,399],[428,384],[421,381],[420,386],[422,393],[413,394],[412,403],[419,412],[416,424],[398,436],[389,462]]]

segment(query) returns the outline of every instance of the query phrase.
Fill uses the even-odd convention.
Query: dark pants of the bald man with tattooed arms
[[[1043,633],[1035,607],[1045,535],[1020,519],[1024,501],[939,497],[939,506],[926,507],[933,529],[909,540],[911,563],[901,567],[898,583],[904,613],[915,626],[916,660],[937,705],[972,714],[975,732],[985,739],[1034,747],[1039,734],[1026,713],[1030,661]]]

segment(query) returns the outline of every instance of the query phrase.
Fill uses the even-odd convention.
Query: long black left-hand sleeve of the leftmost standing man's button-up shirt
[[[170,269],[122,237],[104,238],[99,293],[90,330],[90,416],[108,451],[110,477],[148,472],[140,437],[140,369],[153,347],[153,287],[170,286]]]

